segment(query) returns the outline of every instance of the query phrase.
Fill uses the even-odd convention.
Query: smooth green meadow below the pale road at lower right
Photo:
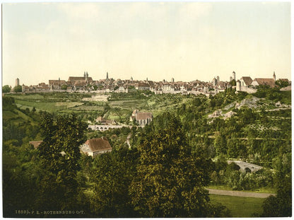
[[[211,202],[219,202],[230,209],[234,218],[252,217],[252,214],[262,213],[262,202],[264,199],[251,197],[231,197],[227,195],[209,195]]]

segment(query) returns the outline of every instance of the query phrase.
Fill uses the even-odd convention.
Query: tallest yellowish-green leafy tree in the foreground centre
[[[203,217],[208,214],[210,161],[192,155],[180,120],[165,113],[146,127],[131,183],[132,204],[141,216]]]

